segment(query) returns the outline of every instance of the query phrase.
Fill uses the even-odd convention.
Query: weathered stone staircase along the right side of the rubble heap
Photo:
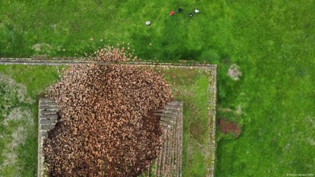
[[[169,102],[155,115],[161,116],[162,147],[151,173],[153,172],[153,176],[179,177],[183,147],[183,102]]]

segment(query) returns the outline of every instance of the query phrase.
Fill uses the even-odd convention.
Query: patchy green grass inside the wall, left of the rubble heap
[[[61,67],[58,67],[61,69]],[[23,85],[17,87],[14,84],[11,87],[0,87],[0,106],[8,106],[8,110],[0,111],[0,167],[3,166],[3,171],[0,171],[0,176],[36,176],[37,169],[37,131],[38,131],[38,109],[37,99],[38,94],[43,94],[45,87],[50,85],[54,80],[57,80],[58,73],[55,66],[23,66],[0,65],[1,76],[13,78],[17,84]],[[0,82],[0,86],[1,86]],[[4,83],[8,84],[8,83]],[[25,86],[25,87],[24,87]],[[5,88],[5,90],[3,90]],[[15,92],[23,92],[26,98],[22,101],[16,97]],[[12,94],[10,94],[12,92]],[[15,109],[29,111],[29,116],[22,115],[20,120],[11,120],[7,126],[3,125],[3,118],[12,113]],[[13,138],[13,134],[22,127],[23,132],[18,134],[17,138]],[[15,139],[22,139],[22,143],[17,146],[10,146]],[[12,148],[12,149],[10,149]],[[15,157],[7,157],[7,155],[16,155]],[[12,163],[3,165],[3,162]]]

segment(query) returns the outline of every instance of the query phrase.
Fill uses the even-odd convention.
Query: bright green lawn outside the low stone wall
[[[314,9],[311,0],[1,1],[0,56],[82,56],[120,44],[143,59],[218,64],[218,106],[240,107],[243,127],[218,141],[216,176],[314,174]],[[239,81],[226,75],[231,64]]]

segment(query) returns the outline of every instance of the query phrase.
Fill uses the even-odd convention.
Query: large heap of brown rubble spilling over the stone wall
[[[125,55],[114,49],[98,59]],[[61,108],[43,148],[49,176],[138,176],[161,146],[153,112],[173,100],[153,69],[94,64],[66,69],[46,97]]]

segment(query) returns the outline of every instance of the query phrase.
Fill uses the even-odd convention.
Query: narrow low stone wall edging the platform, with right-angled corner
[[[32,58],[0,58],[0,64],[24,64],[24,65],[74,65],[74,64],[101,64],[101,65],[135,65],[135,66],[158,66],[161,68],[186,68],[186,69],[201,69],[209,74],[209,102],[208,102],[208,116],[209,116],[209,148],[210,159],[209,168],[207,169],[207,176],[214,176],[214,167],[216,160],[216,94],[217,94],[217,65],[216,64],[195,64],[195,63],[155,63],[155,62],[94,62],[88,60],[55,60],[55,59],[32,59]],[[38,114],[39,116],[39,114]],[[39,120],[38,120],[39,121]],[[38,124],[39,132],[39,124]],[[38,134],[38,143],[40,142]],[[38,148],[38,155],[39,155]],[[38,163],[39,163],[38,157]],[[39,166],[38,166],[39,168]],[[39,172],[39,169],[38,169]],[[39,175],[38,175],[39,176]]]

